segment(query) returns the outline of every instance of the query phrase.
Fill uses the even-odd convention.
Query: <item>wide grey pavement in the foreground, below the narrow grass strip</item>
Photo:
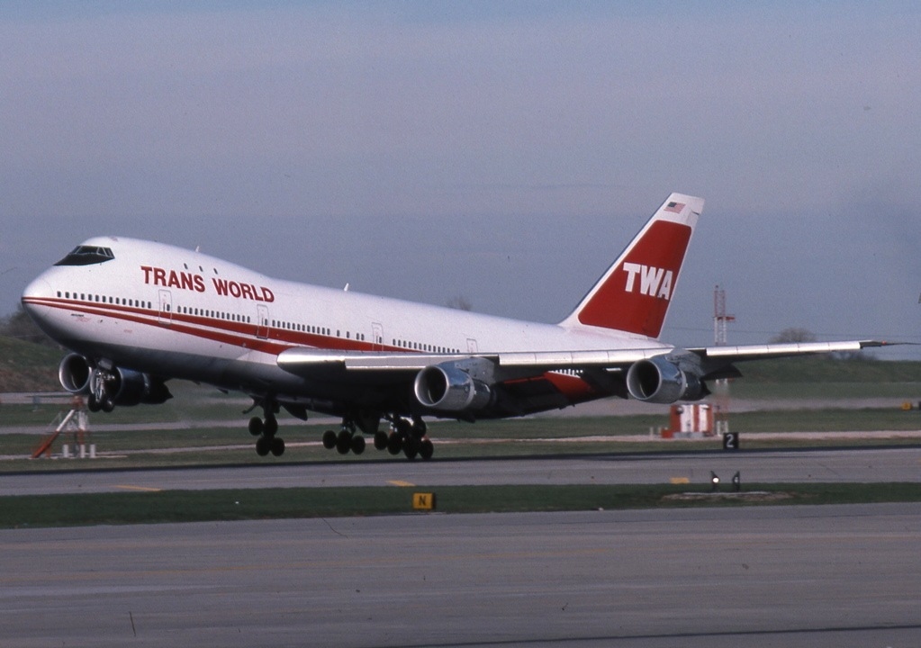
[[[908,646],[921,505],[0,531],[4,646]]]

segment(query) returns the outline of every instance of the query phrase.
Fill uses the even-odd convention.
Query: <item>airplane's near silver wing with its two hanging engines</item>
[[[855,352],[882,341],[810,342],[680,349],[471,354],[366,353],[295,347],[277,364],[309,380],[366,393],[412,388],[438,415],[509,416],[603,396],[670,404],[703,399],[705,381],[741,376],[735,363],[816,353]],[[406,393],[406,392],[403,392]]]

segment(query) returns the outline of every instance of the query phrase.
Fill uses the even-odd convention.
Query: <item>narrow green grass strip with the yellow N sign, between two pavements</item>
[[[921,502],[921,484],[749,484],[748,496],[698,489],[699,499],[674,498],[688,487],[660,485],[439,486],[435,489],[331,488],[272,492],[167,491],[29,495],[0,498],[0,527],[94,526],[397,515],[412,511],[413,492],[434,492],[442,513],[517,513],[635,508]],[[774,497],[763,496],[767,492]],[[743,495],[745,494],[743,493]],[[777,497],[781,499],[776,499]]]

